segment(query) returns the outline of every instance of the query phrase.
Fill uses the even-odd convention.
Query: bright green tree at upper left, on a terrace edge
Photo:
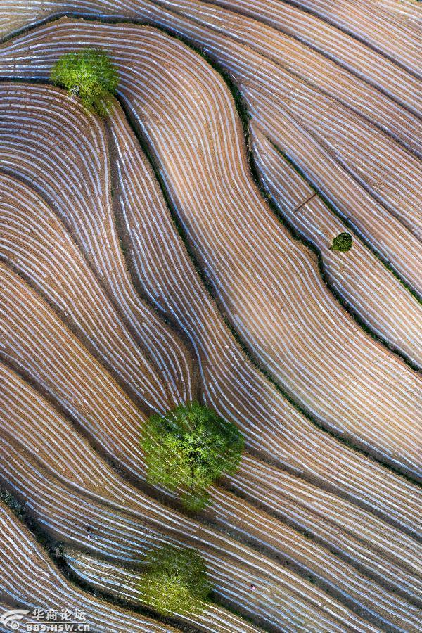
[[[106,51],[84,49],[67,53],[53,65],[50,75],[56,86],[79,96],[85,108],[105,116],[110,95],[115,94],[119,77]]]

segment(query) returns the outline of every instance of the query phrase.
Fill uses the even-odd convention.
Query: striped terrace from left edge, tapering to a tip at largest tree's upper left
[[[25,184],[0,173],[0,257],[44,296],[152,411],[174,401],[136,347],[63,224]]]

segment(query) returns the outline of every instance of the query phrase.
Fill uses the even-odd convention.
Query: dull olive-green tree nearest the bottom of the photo
[[[139,597],[162,615],[198,614],[205,608],[211,586],[198,552],[165,545],[147,556]]]

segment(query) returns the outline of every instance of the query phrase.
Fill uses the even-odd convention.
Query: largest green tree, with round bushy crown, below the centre
[[[215,411],[191,402],[165,416],[151,416],[141,447],[148,479],[169,490],[181,490],[185,508],[197,511],[207,504],[207,487],[222,473],[236,471],[243,436]]]

